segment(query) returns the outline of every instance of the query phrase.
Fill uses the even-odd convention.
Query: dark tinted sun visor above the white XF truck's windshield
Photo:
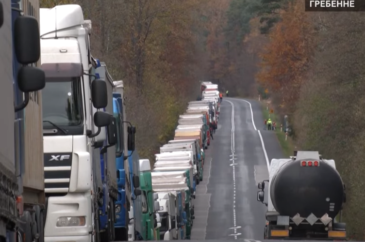
[[[82,63],[43,63],[41,68],[45,72],[46,78],[71,78],[83,76]]]

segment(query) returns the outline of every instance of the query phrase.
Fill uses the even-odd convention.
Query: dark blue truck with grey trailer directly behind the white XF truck
[[[104,80],[107,84],[108,105],[104,111],[113,114],[116,132],[120,130],[119,122],[114,115],[114,98],[113,91],[115,89],[112,76],[109,74],[105,62],[97,60],[98,65],[95,70],[95,75],[98,79]],[[120,135],[120,134],[119,134]],[[118,135],[116,134],[116,145],[109,144],[108,140],[104,141],[104,145],[100,148],[101,160],[101,177],[103,181],[103,204],[100,206],[100,231],[101,241],[115,240],[115,202],[118,198],[118,186],[116,181],[116,150],[121,149],[120,142],[118,143]],[[119,137],[120,139],[120,137]]]

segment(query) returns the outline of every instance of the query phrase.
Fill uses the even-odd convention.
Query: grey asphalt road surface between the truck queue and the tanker
[[[272,158],[284,157],[275,133],[264,130],[261,104],[223,98],[218,129],[197,186],[192,240],[264,239],[266,207],[257,184]]]

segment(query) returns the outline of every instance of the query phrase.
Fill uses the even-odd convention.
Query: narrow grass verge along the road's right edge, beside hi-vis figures
[[[268,110],[266,110],[266,102],[261,102],[262,104],[262,110],[263,110],[263,116],[264,119],[267,120],[269,118],[269,112],[270,112],[270,105],[268,105]],[[272,107],[271,107],[272,108]],[[294,143],[293,140],[288,136],[287,140],[285,140],[285,132],[281,132],[280,131],[280,119],[275,115],[275,111],[274,113],[270,114],[270,119],[271,121],[275,121],[276,122],[276,131],[274,131],[276,133],[276,136],[278,137],[280,146],[282,147],[282,152],[284,153],[285,156],[292,156],[293,155],[293,151],[294,151]]]

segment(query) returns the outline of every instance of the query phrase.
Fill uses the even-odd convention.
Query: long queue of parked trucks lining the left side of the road
[[[203,82],[174,140],[140,158],[124,82],[92,56],[83,16],[79,5],[0,2],[1,241],[190,239],[218,87]]]

